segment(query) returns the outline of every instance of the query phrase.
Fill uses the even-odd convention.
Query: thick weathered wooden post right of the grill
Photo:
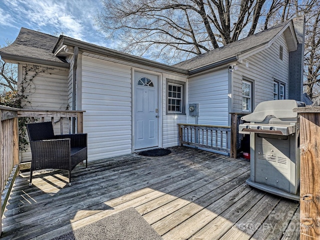
[[[320,239],[320,107],[300,113],[300,239]]]

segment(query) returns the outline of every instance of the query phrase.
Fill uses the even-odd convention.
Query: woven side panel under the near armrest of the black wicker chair
[[[30,141],[33,169],[69,169],[70,138]]]

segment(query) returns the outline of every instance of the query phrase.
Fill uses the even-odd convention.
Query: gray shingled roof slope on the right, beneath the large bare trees
[[[201,66],[205,66],[214,62],[236,56],[240,53],[248,51],[252,48],[261,46],[269,42],[281,29],[289,22],[285,21],[276,26],[270,27],[266,30],[260,31],[256,34],[247,36],[240,40],[231,42],[219,48],[202,53],[198,56],[188,60],[174,64],[173,66],[180,67],[187,70],[192,70]]]

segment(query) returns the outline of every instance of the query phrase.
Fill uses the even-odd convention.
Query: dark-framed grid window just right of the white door
[[[166,79],[166,114],[185,114],[185,82]]]

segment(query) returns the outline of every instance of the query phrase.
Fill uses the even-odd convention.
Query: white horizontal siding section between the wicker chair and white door
[[[129,67],[83,56],[81,108],[89,160],[131,152]]]

